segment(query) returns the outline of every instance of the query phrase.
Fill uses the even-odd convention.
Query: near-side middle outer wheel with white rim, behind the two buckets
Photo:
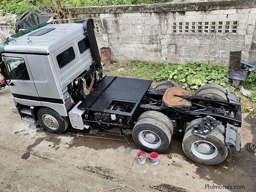
[[[170,145],[171,132],[162,122],[152,119],[140,119],[132,129],[134,142],[148,152],[164,152]]]

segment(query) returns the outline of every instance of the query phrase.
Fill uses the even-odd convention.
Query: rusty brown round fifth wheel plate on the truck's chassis
[[[170,87],[164,92],[163,101],[168,107],[191,106],[190,102],[178,97],[178,95],[189,95],[189,93],[181,87]]]

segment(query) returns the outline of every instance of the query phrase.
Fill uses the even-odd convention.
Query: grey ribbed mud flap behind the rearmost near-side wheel
[[[226,140],[225,143],[230,152],[230,159],[232,156],[232,152],[236,151],[238,153],[241,152],[241,137],[240,133],[237,132],[237,128],[231,124],[227,123],[226,129]]]

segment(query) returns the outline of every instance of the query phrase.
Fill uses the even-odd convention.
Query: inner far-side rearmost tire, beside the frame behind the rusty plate
[[[214,100],[228,101],[228,98],[225,93],[215,90],[215,89],[205,89],[197,92],[195,96],[200,96],[204,98],[212,98]]]

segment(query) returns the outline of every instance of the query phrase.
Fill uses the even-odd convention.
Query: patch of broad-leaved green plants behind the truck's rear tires
[[[207,83],[220,84],[226,89],[235,90],[226,77],[227,73],[228,67],[220,66],[219,63],[205,64],[190,61],[188,65],[170,65],[166,62],[162,70],[156,72],[153,79],[173,80],[192,92]]]

